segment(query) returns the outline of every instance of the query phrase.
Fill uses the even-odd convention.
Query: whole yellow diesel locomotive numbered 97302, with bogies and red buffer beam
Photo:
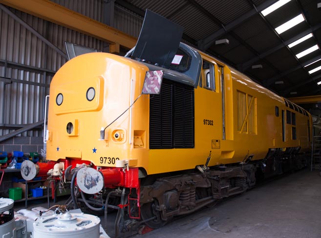
[[[81,55],[50,85],[49,174],[71,180],[74,207],[118,209],[116,234],[305,165],[312,118],[301,107],[184,43],[166,66],[136,58]],[[146,94],[150,75],[160,91]]]

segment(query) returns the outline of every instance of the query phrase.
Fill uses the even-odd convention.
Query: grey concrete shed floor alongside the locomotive
[[[40,205],[30,204],[29,209]],[[17,204],[15,211],[18,208]],[[114,219],[115,215],[108,218]],[[101,219],[104,225],[104,218]],[[111,236],[113,225],[110,222],[107,226]],[[319,171],[305,169],[285,175],[212,208],[175,218],[160,229],[131,238],[154,237],[321,238]]]

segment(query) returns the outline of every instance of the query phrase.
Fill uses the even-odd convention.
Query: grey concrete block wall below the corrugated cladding
[[[0,151],[8,153],[22,151],[23,153],[38,152],[43,149],[43,137],[13,137],[0,142]]]

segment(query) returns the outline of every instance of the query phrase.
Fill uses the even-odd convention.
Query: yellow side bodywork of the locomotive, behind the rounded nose
[[[249,155],[252,160],[264,159],[269,149],[301,147],[301,152],[309,150],[311,130],[307,126],[311,116],[296,112],[285,106],[284,99],[258,85],[245,75],[232,71],[216,59],[200,52],[203,59],[219,63],[224,70],[225,90],[225,139],[222,125],[222,92],[221,81],[216,82],[219,90],[211,91],[203,87],[197,87],[194,91],[195,98],[195,147],[190,149],[159,149],[150,150],[149,174],[192,169],[196,165],[204,164],[205,158],[212,151],[209,166],[219,164],[231,164],[242,162]],[[222,72],[218,69],[221,79]],[[237,92],[243,92],[255,97],[255,133],[237,131]],[[276,117],[275,107],[279,108],[279,116]],[[291,111],[297,118],[297,139],[292,139],[292,125],[285,123],[285,141],[282,140],[282,110]],[[304,110],[304,109],[302,109]],[[214,126],[203,124],[203,119],[214,120]],[[285,118],[284,118],[285,119]],[[214,143],[214,145],[213,145]]]

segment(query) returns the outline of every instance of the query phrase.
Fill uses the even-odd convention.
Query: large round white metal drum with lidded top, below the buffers
[[[33,238],[99,238],[99,226],[100,219],[89,214],[55,214],[33,223]]]

